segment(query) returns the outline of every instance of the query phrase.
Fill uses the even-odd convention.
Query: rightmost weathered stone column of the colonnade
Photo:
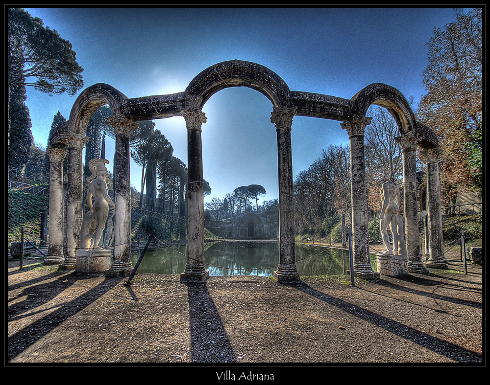
[[[429,260],[426,267],[447,269],[442,238],[441,183],[439,175],[439,148],[420,151],[426,163],[427,174],[427,216],[429,222]]]

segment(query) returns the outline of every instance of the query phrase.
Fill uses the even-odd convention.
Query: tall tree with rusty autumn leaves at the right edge
[[[419,119],[439,136],[441,187],[482,193],[482,9],[456,10],[456,21],[435,28],[429,64],[423,72],[427,93]]]

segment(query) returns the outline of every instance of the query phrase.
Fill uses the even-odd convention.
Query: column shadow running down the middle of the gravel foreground
[[[235,353],[206,283],[186,283],[192,362],[236,362]]]

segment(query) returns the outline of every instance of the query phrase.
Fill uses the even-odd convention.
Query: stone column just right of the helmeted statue
[[[106,276],[127,276],[131,265],[131,179],[129,171],[129,136],[138,123],[118,114],[106,118],[114,128],[116,152],[114,155],[114,262],[104,272]]]

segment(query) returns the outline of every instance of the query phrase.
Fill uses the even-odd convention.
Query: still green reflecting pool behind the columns
[[[172,246],[172,249],[148,249],[138,272],[157,274],[183,272],[187,263],[186,246]],[[140,253],[141,250],[134,250],[131,254],[133,266],[138,261]],[[349,270],[349,252],[346,250],[296,245],[295,257],[299,275],[342,275]],[[278,243],[274,241],[205,243],[204,263],[210,275],[271,276],[279,263]],[[373,256],[371,256],[371,265],[376,270],[376,260]]]

